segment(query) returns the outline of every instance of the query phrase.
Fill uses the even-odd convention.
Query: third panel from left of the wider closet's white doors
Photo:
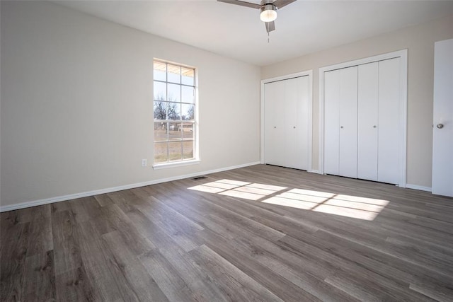
[[[378,66],[359,66],[357,178],[364,180],[377,180]]]

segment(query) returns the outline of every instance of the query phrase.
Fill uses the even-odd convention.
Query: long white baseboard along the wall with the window
[[[66,200],[82,198],[82,197],[88,197],[88,196],[93,196],[93,195],[97,195],[97,194],[105,194],[105,193],[110,193],[110,192],[128,190],[128,189],[133,189],[135,187],[144,187],[144,186],[147,186],[147,185],[156,185],[156,184],[161,183],[161,182],[169,182],[169,181],[173,181],[173,180],[182,180],[184,178],[193,178],[193,177],[200,176],[200,175],[212,174],[212,173],[217,173],[217,172],[223,172],[223,171],[226,171],[226,170],[233,170],[233,169],[248,167],[250,165],[259,165],[259,164],[260,164],[260,162],[256,161],[256,162],[253,162],[253,163],[244,163],[242,165],[234,165],[234,166],[226,167],[226,168],[219,168],[219,169],[202,171],[202,172],[186,174],[186,175],[178,175],[178,176],[173,176],[171,178],[161,178],[159,180],[150,180],[150,181],[147,181],[147,182],[138,182],[138,183],[133,183],[133,184],[130,184],[130,185],[122,185],[122,186],[119,186],[119,187],[108,187],[108,188],[101,189],[101,190],[94,190],[94,191],[89,191],[89,192],[81,192],[81,193],[76,193],[76,194],[69,194],[69,195],[64,195],[64,196],[33,200],[31,202],[21,202],[20,204],[11,204],[11,205],[8,205],[8,206],[3,206],[3,207],[0,206],[0,212],[13,211],[13,210],[24,209],[24,208],[28,208],[28,207],[36,207],[36,206],[40,206],[42,204],[52,204],[54,202],[64,202]]]

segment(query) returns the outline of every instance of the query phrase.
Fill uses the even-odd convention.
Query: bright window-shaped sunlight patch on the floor
[[[217,180],[188,189],[369,221],[374,220],[389,204],[389,201],[384,199],[298,188],[288,190],[287,187],[238,180]]]

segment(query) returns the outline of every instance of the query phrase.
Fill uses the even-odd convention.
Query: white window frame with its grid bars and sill
[[[194,88],[194,102],[193,103],[183,102],[182,98],[180,98],[180,101],[178,103],[181,104],[181,105],[184,105],[184,104],[192,105],[193,104],[194,107],[195,107],[195,115],[193,117],[193,120],[156,120],[156,119],[154,119],[154,102],[156,100],[154,100],[154,93],[153,93],[153,99],[152,99],[153,100],[153,128],[152,128],[153,129],[153,141],[152,141],[152,144],[153,144],[153,156],[152,156],[153,165],[152,165],[152,168],[154,170],[160,170],[160,169],[164,169],[164,168],[173,168],[173,167],[184,166],[184,165],[195,165],[197,163],[200,163],[200,155],[199,155],[199,122],[198,122],[198,117],[199,117],[199,113],[198,113],[198,111],[199,111],[198,69],[193,67],[193,66],[188,66],[188,65],[185,65],[185,64],[175,63],[175,62],[166,61],[166,60],[157,59],[157,58],[153,59],[153,65],[154,65],[154,62],[164,63],[166,65],[170,64],[170,65],[179,66],[181,69],[183,69],[183,68],[193,69],[193,71],[194,71],[194,83],[193,83],[193,86],[188,85],[186,83],[183,83],[182,74],[181,74],[180,83],[174,83],[172,81],[168,81],[168,76],[166,76],[166,81],[156,80],[156,79],[154,79],[154,76],[153,76],[153,87],[154,87],[154,82],[166,83],[166,85],[168,85],[168,83],[176,84],[176,85],[179,85],[181,87],[181,96],[182,96],[182,93],[183,93],[182,92],[182,87],[183,86]],[[154,67],[153,67],[153,70],[154,70]],[[167,88],[167,90],[168,90],[168,88]],[[168,92],[167,92],[167,94],[168,94]],[[167,95],[167,97],[168,97],[168,95]],[[172,103],[169,100],[164,100],[164,102],[165,103]],[[193,132],[193,139],[187,139],[187,140],[181,140],[180,141],[181,144],[183,143],[183,141],[193,141],[193,149],[194,149],[193,150],[193,158],[184,159],[183,158],[183,154],[181,154],[182,158],[180,160],[178,160],[178,161],[168,161],[168,158],[167,158],[166,162],[156,163],[155,162],[155,157],[154,157],[154,151],[155,151],[155,145],[156,145],[156,143],[159,143],[159,141],[155,141],[154,140],[154,123],[155,122],[168,122],[168,123],[178,123],[178,122],[184,123],[184,122],[188,122],[188,123],[193,123],[194,128],[195,128],[195,131]],[[171,143],[171,142],[179,142],[179,141],[171,141],[171,140],[168,139],[167,141],[161,141],[161,142],[166,142],[168,144],[168,143]]]

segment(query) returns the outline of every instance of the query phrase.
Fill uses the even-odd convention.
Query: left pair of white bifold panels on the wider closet
[[[324,173],[357,178],[357,66],[324,74]]]

